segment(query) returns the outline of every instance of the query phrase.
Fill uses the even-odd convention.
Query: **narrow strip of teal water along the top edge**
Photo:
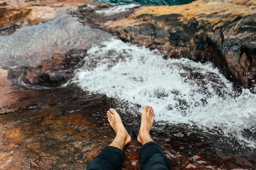
[[[103,4],[112,5],[127,5],[127,4],[137,4],[140,6],[159,6],[159,5],[182,5],[189,4],[194,0],[93,0],[95,2],[100,2]]]

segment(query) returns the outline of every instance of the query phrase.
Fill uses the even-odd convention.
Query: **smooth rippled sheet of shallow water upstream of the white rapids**
[[[88,49],[93,43],[104,40],[102,35],[106,39],[110,36],[102,30],[84,27],[70,15],[63,14],[55,20],[26,25],[12,35],[0,36],[0,65],[35,67],[54,53]]]

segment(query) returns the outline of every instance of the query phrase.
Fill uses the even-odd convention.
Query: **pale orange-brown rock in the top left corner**
[[[0,1],[0,28],[13,24],[36,24],[52,20],[60,10],[76,9],[86,4],[99,3],[82,0]]]

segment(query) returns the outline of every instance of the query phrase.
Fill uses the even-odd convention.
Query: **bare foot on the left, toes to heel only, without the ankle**
[[[126,131],[119,114],[115,111],[115,109],[111,108],[107,112],[107,116],[108,121],[111,127],[114,129],[116,135],[121,135],[124,137],[125,145],[129,144],[131,142],[131,136]]]

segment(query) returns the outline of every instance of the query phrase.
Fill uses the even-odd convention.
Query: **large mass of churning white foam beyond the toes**
[[[105,47],[88,50],[73,82],[90,92],[133,104],[154,107],[156,121],[196,123],[221,128],[244,139],[243,129],[255,131],[256,95],[243,90],[239,97],[211,63],[188,59],[164,60],[157,51],[111,39]],[[139,111],[139,110],[136,110]]]

